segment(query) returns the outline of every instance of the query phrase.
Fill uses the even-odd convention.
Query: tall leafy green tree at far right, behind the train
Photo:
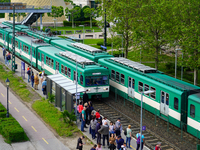
[[[200,67],[200,1],[180,0],[174,6],[174,32],[184,54],[181,65],[194,70],[194,85],[197,85]]]

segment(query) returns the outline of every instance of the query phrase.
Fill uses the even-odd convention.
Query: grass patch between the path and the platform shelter
[[[53,104],[49,103],[48,100],[35,101],[32,108],[60,136],[71,136],[79,131],[75,124],[64,123],[61,112]]]

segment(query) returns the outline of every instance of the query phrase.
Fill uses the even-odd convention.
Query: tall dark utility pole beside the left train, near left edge
[[[12,71],[15,72],[15,5],[13,4],[13,45],[12,45]]]

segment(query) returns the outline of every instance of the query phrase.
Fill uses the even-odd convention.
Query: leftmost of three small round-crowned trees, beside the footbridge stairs
[[[47,13],[47,15],[49,17],[53,17],[54,18],[54,28],[56,26],[56,18],[58,17],[62,17],[64,15],[64,12],[63,12],[63,7],[62,6],[52,6],[52,12],[51,13]]]

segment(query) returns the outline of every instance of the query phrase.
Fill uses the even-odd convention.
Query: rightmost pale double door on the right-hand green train
[[[169,94],[163,91],[161,91],[160,112],[169,115]]]

